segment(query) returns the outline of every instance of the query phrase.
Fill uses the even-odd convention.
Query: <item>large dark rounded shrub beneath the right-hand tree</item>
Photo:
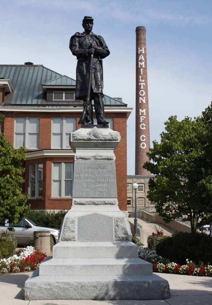
[[[198,264],[212,261],[212,238],[204,233],[179,232],[162,240],[156,246],[156,251],[162,257],[172,262],[185,264],[187,258]]]

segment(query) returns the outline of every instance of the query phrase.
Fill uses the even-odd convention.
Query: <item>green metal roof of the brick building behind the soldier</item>
[[[5,95],[2,106],[49,106],[46,95],[43,93],[43,86],[75,86],[76,81],[66,75],[61,75],[43,65],[0,65],[0,75],[9,79],[13,91]],[[124,106],[121,98],[112,98],[104,95],[105,106]],[[71,102],[70,104],[73,104]],[[56,107],[64,107],[60,102]],[[70,105],[67,105],[70,106]]]

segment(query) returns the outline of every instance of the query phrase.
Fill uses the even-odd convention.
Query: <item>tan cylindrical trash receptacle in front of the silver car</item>
[[[50,231],[34,231],[34,244],[35,250],[40,250],[42,253],[47,253],[48,256],[52,255],[50,251]]]

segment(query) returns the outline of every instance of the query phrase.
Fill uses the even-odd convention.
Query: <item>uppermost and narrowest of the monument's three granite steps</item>
[[[54,258],[130,258],[138,257],[133,242],[58,242],[53,247]]]

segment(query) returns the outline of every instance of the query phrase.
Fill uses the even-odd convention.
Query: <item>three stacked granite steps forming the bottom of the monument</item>
[[[59,242],[25,282],[25,300],[162,300],[169,283],[132,242]]]

